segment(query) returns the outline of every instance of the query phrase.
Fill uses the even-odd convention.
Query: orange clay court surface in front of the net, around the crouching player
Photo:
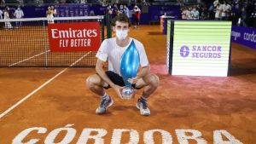
[[[2,67],[0,143],[32,139],[37,143],[64,139],[70,143],[150,143],[148,130],[162,131],[163,136],[154,133],[154,143],[186,143],[183,134],[194,135],[196,140],[187,138],[189,144],[256,143],[255,50],[232,43],[230,76],[226,78],[172,76],[166,72],[166,35],[161,34],[160,26],[141,26],[130,34],[144,44],[151,72],[160,78],[159,88],[148,100],[149,117],[141,116],[136,108],[142,90],[135,99],[125,101],[108,89],[114,104],[106,114],[96,115],[100,99],[84,84],[95,73],[93,67]],[[21,133],[29,128],[34,130]],[[67,135],[67,130],[73,131]],[[119,139],[122,130],[126,132]]]

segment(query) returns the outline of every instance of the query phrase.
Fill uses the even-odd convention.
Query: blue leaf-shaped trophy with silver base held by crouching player
[[[134,96],[134,89],[128,82],[129,78],[135,78],[140,65],[140,57],[134,41],[131,41],[129,47],[121,57],[120,72],[125,82],[125,88],[121,95],[124,99],[131,99]]]

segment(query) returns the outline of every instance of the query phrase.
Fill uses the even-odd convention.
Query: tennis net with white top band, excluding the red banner
[[[99,23],[99,37],[104,39],[104,16],[27,18],[0,20],[0,66],[78,66],[96,65],[94,51],[52,51],[49,24]]]

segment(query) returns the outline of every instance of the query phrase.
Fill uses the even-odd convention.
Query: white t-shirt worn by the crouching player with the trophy
[[[102,42],[100,49],[98,50],[96,57],[99,60],[107,61],[108,59],[108,71],[115,72],[121,76],[120,73],[120,62],[121,57],[124,54],[125,50],[131,44],[131,41],[134,41],[137,51],[140,56],[140,66],[149,66],[148,57],[146,55],[143,43],[137,41],[137,39],[130,38],[130,43],[125,47],[120,47],[116,43],[116,37],[105,39]]]

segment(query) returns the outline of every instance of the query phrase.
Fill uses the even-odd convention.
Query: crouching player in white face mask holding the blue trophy
[[[148,57],[145,53],[143,43],[137,39],[129,37],[130,20],[125,14],[119,14],[113,19],[113,32],[116,37],[105,39],[102,42],[100,49],[96,54],[96,74],[89,76],[86,79],[87,87],[96,95],[101,97],[100,106],[97,107],[96,113],[103,114],[107,111],[108,107],[113,105],[113,98],[108,95],[105,89],[113,88],[116,95],[120,94],[121,89],[125,86],[123,78],[120,74],[120,60],[121,56],[128,48],[133,40],[140,57],[140,70],[137,72],[136,78],[130,78],[129,83],[135,89],[143,88],[143,95],[137,101],[137,108],[144,116],[150,115],[148,108],[148,98],[152,95],[159,85],[159,78],[154,73],[149,72]],[[108,71],[104,70],[104,65],[108,60]]]

